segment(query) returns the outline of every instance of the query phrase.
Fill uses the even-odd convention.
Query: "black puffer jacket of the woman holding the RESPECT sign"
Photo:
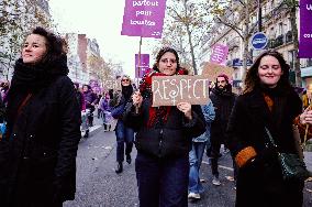
[[[190,150],[192,138],[205,132],[204,117],[200,106],[192,106],[192,120],[188,121],[185,115],[171,107],[167,122],[161,128],[148,128],[149,98],[144,99],[140,113],[135,113],[132,102],[129,102],[124,113],[124,122],[137,131],[135,146],[138,152],[154,157],[181,157]]]

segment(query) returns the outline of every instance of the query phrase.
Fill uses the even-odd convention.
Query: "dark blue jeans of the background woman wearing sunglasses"
[[[134,140],[134,131],[124,126],[122,120],[119,120],[115,128],[116,135],[116,162],[124,161],[124,154],[131,154]],[[124,152],[125,144],[125,152]]]

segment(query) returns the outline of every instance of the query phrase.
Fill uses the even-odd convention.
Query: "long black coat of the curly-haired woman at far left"
[[[8,103],[9,110],[15,100]],[[74,199],[81,135],[71,80],[59,76],[33,94],[16,118],[8,118],[8,128],[10,137],[0,142],[0,206]],[[33,200],[42,203],[31,205]]]

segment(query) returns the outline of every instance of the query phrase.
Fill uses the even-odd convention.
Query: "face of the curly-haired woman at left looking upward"
[[[43,59],[47,53],[46,40],[38,34],[31,34],[26,37],[22,50],[24,63],[36,64]]]

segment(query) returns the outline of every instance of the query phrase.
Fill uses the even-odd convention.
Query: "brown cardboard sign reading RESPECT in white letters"
[[[207,105],[209,80],[203,76],[153,76],[153,107],[176,106],[178,102]]]

